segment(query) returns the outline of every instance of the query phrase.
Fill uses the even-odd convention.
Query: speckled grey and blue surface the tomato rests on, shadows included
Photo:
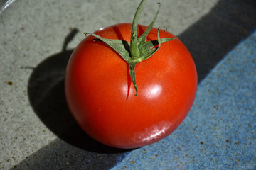
[[[150,23],[156,2],[147,1],[139,23]],[[0,169],[256,169],[255,1],[160,2],[155,26],[191,51],[198,93],[177,130],[133,150],[105,147],[80,130],[63,79],[83,32],[131,22],[139,1],[19,0],[1,8]]]

